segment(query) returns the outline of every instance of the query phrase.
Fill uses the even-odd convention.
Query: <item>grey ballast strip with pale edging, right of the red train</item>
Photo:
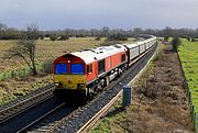
[[[51,132],[87,132],[103,114],[107,113],[108,109],[114,103],[114,101],[118,100],[122,93],[122,87],[128,85],[131,79],[142,70],[155,53],[156,48],[157,45],[155,45],[153,49],[142,58],[138,59],[128,71],[125,71],[118,80],[110,84],[106,91],[101,92],[88,104],[77,109],[69,114],[69,117],[62,119],[62,121],[54,126]]]

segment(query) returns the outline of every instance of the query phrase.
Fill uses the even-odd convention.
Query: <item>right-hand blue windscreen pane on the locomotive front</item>
[[[72,64],[70,65],[72,75],[84,75],[84,65],[82,64]]]

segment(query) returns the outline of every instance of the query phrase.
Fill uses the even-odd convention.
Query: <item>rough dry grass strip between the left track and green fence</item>
[[[42,88],[53,82],[52,75],[40,74],[25,78],[14,78],[0,82],[0,104],[14,100],[18,97]]]

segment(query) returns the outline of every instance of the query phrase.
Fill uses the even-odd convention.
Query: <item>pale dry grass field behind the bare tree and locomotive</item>
[[[44,62],[47,59],[54,59],[67,52],[79,51],[82,48],[89,48],[98,46],[101,41],[95,41],[94,37],[76,38],[72,37],[69,41],[37,41],[36,42],[36,62]],[[0,70],[8,70],[13,68],[21,68],[24,66],[24,62],[21,58],[3,59],[6,51],[8,51],[14,41],[0,41]],[[8,67],[9,66],[9,67]]]

